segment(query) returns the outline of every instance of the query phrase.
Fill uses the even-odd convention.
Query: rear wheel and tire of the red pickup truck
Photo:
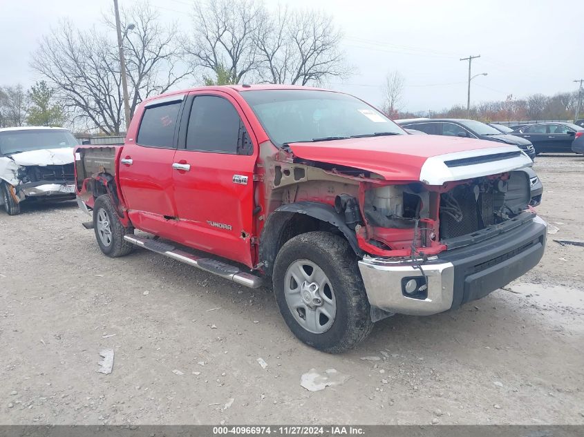
[[[124,235],[134,231],[124,228],[107,194],[97,197],[93,205],[93,230],[104,255],[117,258],[128,255],[134,249],[133,244],[124,240]]]

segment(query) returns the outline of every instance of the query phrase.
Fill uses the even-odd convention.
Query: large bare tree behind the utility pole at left
[[[124,23],[135,26],[124,40],[133,114],[142,99],[168,90],[189,69],[175,72],[180,58],[173,46],[178,39],[176,28],[162,29],[148,3],[124,11],[123,17]],[[97,28],[78,30],[63,21],[41,39],[31,66],[55,88],[55,97],[71,122],[119,135],[124,111],[114,35]]]

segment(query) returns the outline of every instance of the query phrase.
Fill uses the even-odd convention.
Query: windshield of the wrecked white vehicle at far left
[[[28,152],[44,148],[77,146],[79,141],[65,129],[6,130],[0,132],[0,153]]]

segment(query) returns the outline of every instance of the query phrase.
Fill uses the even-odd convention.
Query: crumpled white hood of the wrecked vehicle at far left
[[[0,179],[10,185],[19,184],[18,169],[24,166],[62,166],[73,164],[73,147],[46,148],[12,153],[0,157]]]

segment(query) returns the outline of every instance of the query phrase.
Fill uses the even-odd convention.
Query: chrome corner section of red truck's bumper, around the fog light
[[[369,303],[390,313],[430,315],[451,308],[454,290],[454,266],[431,258],[422,264],[428,278],[427,297],[410,298],[402,292],[404,278],[417,278],[422,272],[411,260],[364,258],[359,270]]]

